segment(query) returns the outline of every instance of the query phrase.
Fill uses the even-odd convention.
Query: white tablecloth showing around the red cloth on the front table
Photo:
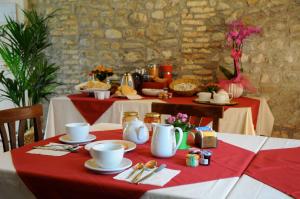
[[[94,130],[118,129],[119,124],[97,124]],[[219,133],[220,140],[257,152],[263,143],[265,137],[244,136],[237,134]],[[0,154],[0,198],[34,198],[33,194],[27,189],[24,183],[16,174],[12,164],[10,152]],[[213,180],[202,183],[194,183],[176,187],[156,189],[146,192],[142,198],[226,198],[230,190],[235,186],[238,177]]]

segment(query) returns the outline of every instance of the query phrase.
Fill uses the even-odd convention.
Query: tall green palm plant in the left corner
[[[3,86],[0,100],[9,100],[17,107],[48,100],[59,85],[56,79],[59,67],[49,63],[45,54],[45,49],[51,46],[48,22],[54,13],[41,16],[34,10],[23,12],[24,23],[7,17],[6,24],[0,26],[0,58],[6,67],[0,71]],[[27,123],[29,134],[33,135],[30,126]]]

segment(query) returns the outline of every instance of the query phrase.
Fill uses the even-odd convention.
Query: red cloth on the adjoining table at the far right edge
[[[246,174],[295,198],[300,198],[300,147],[260,151]]]

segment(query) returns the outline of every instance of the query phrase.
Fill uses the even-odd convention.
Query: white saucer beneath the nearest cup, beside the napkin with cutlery
[[[96,164],[96,161],[94,159],[89,159],[89,160],[85,161],[85,163],[84,163],[85,168],[95,171],[97,173],[101,173],[101,174],[120,173],[120,172],[124,171],[125,169],[131,167],[131,165],[132,165],[132,161],[127,158],[123,158],[120,165],[114,169],[104,169],[104,168],[98,167]]]

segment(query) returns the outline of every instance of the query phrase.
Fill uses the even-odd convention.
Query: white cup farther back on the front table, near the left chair
[[[88,123],[68,123],[65,127],[72,141],[84,141],[89,136],[90,125]]]

